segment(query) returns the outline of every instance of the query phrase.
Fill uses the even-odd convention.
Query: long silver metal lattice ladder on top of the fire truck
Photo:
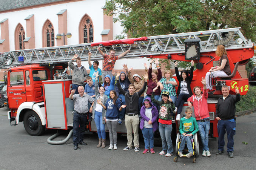
[[[134,44],[114,44],[112,46],[103,46],[103,52],[109,54],[110,49],[115,49],[116,54],[119,55],[127,49],[130,49],[131,52],[129,52],[123,58],[136,58],[148,55],[184,53],[185,45],[183,41],[188,38],[200,38],[200,52],[215,51],[216,45],[214,45],[214,41],[216,40],[216,37],[219,37],[219,39],[223,39],[220,38],[221,34],[222,32],[227,31],[234,31],[233,36],[236,36],[236,38],[241,38],[242,44],[236,44],[235,41],[232,39],[226,43],[226,49],[252,47],[251,41],[245,39],[239,28],[230,28],[152,36],[148,37],[147,41],[137,41],[134,42]],[[86,43],[77,45],[12,51],[9,52],[11,54],[10,57],[8,57],[5,60],[2,59],[2,63],[8,61],[9,58],[12,57],[13,61],[11,65],[20,65],[22,63],[19,63],[19,56],[24,57],[23,64],[67,62],[71,60],[74,54],[78,54],[79,57],[82,58],[82,61],[87,61],[88,52],[91,52],[93,54],[91,60],[103,60],[102,55],[100,55],[99,51],[97,50],[98,46],[92,47],[91,44],[92,43]],[[154,46],[155,44],[156,46]],[[153,46],[156,48],[152,49]]]

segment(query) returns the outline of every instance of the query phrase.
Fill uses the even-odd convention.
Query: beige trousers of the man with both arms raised
[[[139,115],[125,115],[125,126],[127,130],[127,145],[128,147],[139,147]],[[133,134],[132,134],[133,133]],[[134,139],[133,139],[134,136]],[[133,142],[133,144],[132,144]]]

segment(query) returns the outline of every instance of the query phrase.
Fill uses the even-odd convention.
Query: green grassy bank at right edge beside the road
[[[241,96],[241,100],[236,103],[236,112],[250,110],[256,107],[256,86],[249,85],[246,95]]]

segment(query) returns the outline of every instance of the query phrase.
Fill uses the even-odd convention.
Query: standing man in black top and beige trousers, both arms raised
[[[125,103],[126,103],[126,109],[125,109],[125,127],[127,130],[127,147],[123,150],[130,150],[133,147],[134,144],[134,151],[139,152],[139,97],[142,93],[144,93],[146,86],[147,86],[147,80],[148,80],[148,72],[145,72],[144,75],[144,86],[142,89],[139,90],[139,92],[134,93],[134,85],[129,85],[129,92],[122,89],[119,82],[119,76],[120,72],[116,75],[117,80],[117,87],[122,95],[125,96]],[[133,138],[134,134],[134,138]],[[132,144],[133,142],[133,144]]]

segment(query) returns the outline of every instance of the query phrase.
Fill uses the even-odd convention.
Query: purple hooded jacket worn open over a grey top
[[[145,107],[145,104],[143,103],[143,106],[140,109],[140,116],[141,116],[140,129],[143,129],[145,121],[150,121],[151,120],[152,121],[152,126],[153,126],[153,131],[155,132],[158,128],[158,126],[157,126],[158,111],[157,111],[156,106],[154,106],[152,104],[151,99],[149,97],[147,97],[146,99],[149,100],[150,104],[151,104],[152,119],[148,118],[145,115],[146,107]]]

